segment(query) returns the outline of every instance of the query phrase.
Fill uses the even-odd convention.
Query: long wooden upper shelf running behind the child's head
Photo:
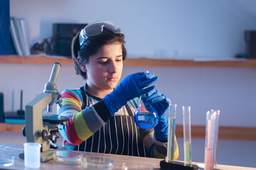
[[[73,65],[73,60],[68,57],[44,57],[44,56],[17,56],[0,55],[0,64],[53,64],[59,62],[62,65]],[[256,68],[256,59],[247,60],[168,60],[149,58],[127,58],[124,66],[142,67],[233,67],[233,68]]]

